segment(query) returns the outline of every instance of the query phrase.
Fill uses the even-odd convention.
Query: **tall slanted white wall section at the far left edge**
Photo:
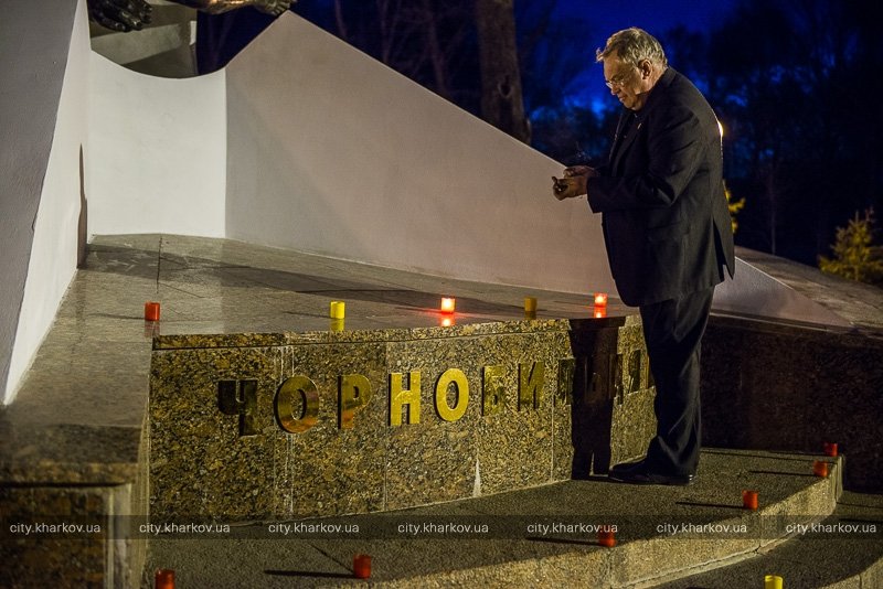
[[[11,403],[76,269],[85,0],[12,0],[0,21],[0,400]]]

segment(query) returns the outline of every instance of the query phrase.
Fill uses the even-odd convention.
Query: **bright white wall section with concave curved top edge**
[[[224,237],[224,72],[146,76],[92,54],[89,234]]]

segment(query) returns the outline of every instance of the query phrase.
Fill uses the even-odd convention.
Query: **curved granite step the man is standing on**
[[[828,478],[813,475],[816,460]],[[211,537],[181,527],[150,538],[143,586],[169,568],[184,587],[347,587],[363,582],[352,575],[362,553],[379,587],[652,587],[753,559],[789,526],[831,517],[842,465],[709,449],[687,488],[592,476],[396,512],[228,522]],[[758,511],[743,507],[743,490],[758,492]],[[616,546],[599,544],[599,525],[616,526]]]

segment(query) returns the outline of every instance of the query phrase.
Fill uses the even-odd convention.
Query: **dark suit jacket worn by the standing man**
[[[714,113],[669,67],[587,183],[623,302],[640,307],[711,288],[724,266],[733,276],[722,167]]]

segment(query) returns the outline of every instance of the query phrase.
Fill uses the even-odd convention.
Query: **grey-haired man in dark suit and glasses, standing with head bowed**
[[[597,61],[625,107],[607,164],[554,179],[558,200],[588,194],[619,297],[639,307],[656,382],[657,435],[610,478],[689,484],[699,465],[700,345],[714,286],[733,276],[721,131],[702,94],[640,29],[615,33]]]

